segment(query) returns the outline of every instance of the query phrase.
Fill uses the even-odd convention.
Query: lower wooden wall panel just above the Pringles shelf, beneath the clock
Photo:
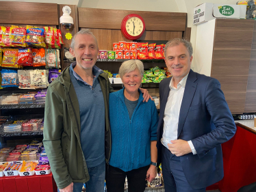
[[[97,38],[99,49],[113,50],[113,42],[130,42],[119,29],[90,29]],[[145,31],[139,40],[170,40],[182,38],[182,31]]]

